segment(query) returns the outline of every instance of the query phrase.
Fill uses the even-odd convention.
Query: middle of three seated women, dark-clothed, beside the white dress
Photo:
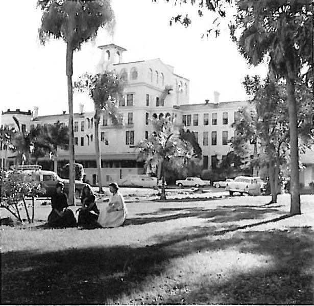
[[[99,227],[97,219],[99,210],[95,203],[95,195],[89,185],[84,186],[82,190],[81,203],[82,208],[79,208],[78,226],[84,228]]]

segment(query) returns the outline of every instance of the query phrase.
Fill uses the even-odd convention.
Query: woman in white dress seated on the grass
[[[97,222],[102,227],[117,227],[125,222],[127,207],[116,182],[109,184],[109,190],[112,193],[109,205],[101,210]]]

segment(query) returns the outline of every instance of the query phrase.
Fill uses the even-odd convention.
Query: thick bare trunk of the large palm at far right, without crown
[[[300,178],[299,178],[299,146],[297,128],[297,105],[295,97],[295,80],[286,77],[287,99],[290,129],[290,214],[301,214],[300,207]]]

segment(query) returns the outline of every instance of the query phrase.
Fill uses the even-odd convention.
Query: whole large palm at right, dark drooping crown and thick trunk
[[[293,4],[286,0],[241,0],[237,6],[235,29],[243,30],[237,40],[240,53],[252,65],[268,59],[273,73],[286,82],[291,145],[290,213],[301,214],[295,85],[305,64],[312,73],[311,0],[295,0]]]

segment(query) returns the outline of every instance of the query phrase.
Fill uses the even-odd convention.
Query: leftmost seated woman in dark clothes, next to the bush
[[[67,208],[69,205],[63,189],[63,183],[58,182],[56,184],[56,193],[51,197],[52,211],[48,216],[46,226],[56,228],[77,226],[73,211]]]

